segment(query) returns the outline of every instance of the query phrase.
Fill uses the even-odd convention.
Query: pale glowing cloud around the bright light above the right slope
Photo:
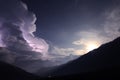
[[[101,15],[104,15],[103,22],[98,28],[84,29],[76,32],[74,35],[79,39],[74,40],[71,44],[79,48],[59,48],[55,47],[53,53],[62,53],[63,55],[84,55],[89,49],[90,44],[95,44],[96,48],[100,45],[112,41],[120,36],[120,8],[114,7],[105,10]],[[97,18],[96,18],[97,19]],[[89,25],[92,26],[92,25]]]

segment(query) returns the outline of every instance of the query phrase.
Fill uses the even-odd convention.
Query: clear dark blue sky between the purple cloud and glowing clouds
[[[101,28],[105,11],[119,5],[119,0],[23,1],[37,16],[36,36],[60,47],[72,46],[70,43],[79,39],[76,32]]]

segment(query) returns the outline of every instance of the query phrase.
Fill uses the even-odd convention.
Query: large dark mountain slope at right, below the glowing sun
[[[95,77],[98,75],[116,76],[120,71],[120,37],[101,45],[99,48],[87,54],[61,65],[48,74],[51,77],[71,76],[79,78],[83,76]],[[116,75],[115,75],[116,74]],[[109,76],[110,78],[111,76]]]

